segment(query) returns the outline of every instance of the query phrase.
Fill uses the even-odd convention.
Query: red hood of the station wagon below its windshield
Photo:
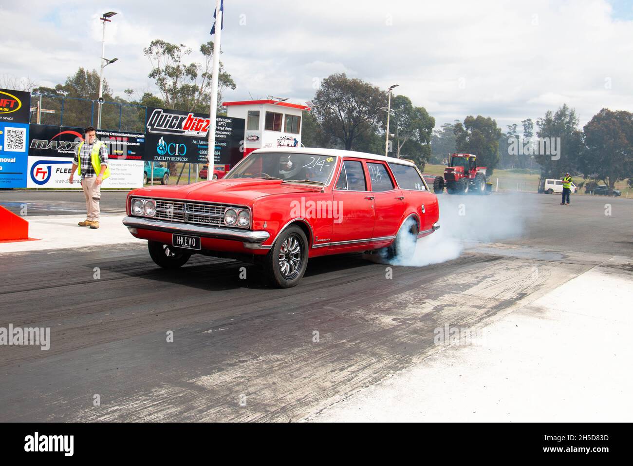
[[[255,199],[271,195],[320,191],[314,184],[284,183],[279,179],[220,179],[199,181],[183,186],[147,186],[134,191],[134,195],[168,199],[191,199],[222,204],[248,204]]]

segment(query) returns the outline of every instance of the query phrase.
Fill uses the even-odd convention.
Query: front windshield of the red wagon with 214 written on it
[[[253,152],[224,179],[275,178],[284,181],[314,181],[327,184],[335,165],[334,155]]]

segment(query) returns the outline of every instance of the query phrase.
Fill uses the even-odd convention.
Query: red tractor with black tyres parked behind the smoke
[[[436,194],[486,194],[486,167],[477,167],[477,155],[454,153],[444,169],[444,178],[436,176],[433,190]]]

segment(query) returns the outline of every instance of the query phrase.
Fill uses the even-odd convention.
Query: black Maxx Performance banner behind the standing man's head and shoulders
[[[97,139],[108,147],[111,159],[142,160],[145,134],[97,129]],[[84,140],[84,129],[68,126],[30,125],[28,155],[37,157],[75,157]]]

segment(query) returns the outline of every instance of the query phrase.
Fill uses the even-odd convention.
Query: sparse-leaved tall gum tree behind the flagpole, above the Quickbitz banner
[[[213,67],[213,41],[200,46],[204,63],[186,63],[191,48],[184,44],[170,44],[156,39],[143,53],[149,59],[152,70],[149,77],[154,79],[166,108],[187,112],[209,112],[211,101],[211,74]],[[222,107],[222,94],[227,87],[235,89],[231,75],[220,62],[218,76],[218,110]]]

